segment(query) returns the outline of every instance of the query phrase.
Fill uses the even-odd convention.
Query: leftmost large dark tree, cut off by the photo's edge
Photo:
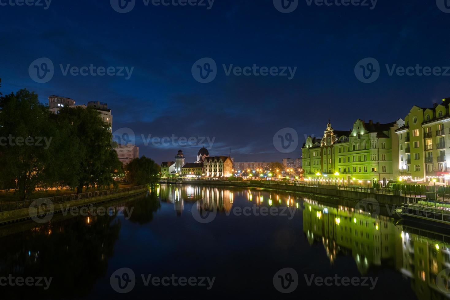
[[[21,200],[56,178],[58,132],[50,114],[27,89],[0,97],[0,181],[6,188],[14,185]]]

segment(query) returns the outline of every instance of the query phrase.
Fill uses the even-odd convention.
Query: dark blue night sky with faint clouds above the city
[[[390,76],[385,67],[450,66],[450,13],[436,0],[378,0],[374,9],[300,0],[292,13],[280,13],[272,0],[216,0],[209,10],[136,0],[129,13],[117,13],[107,0],[53,0],[48,9],[8,2],[0,16],[3,93],[28,88],[44,103],[51,94],[77,104],[108,102],[113,131],[131,128],[140,153],[157,162],[173,159],[178,149],[193,162],[201,146],[144,146],[141,134],[215,137],[211,155],[232,147],[237,161],[281,160],[299,157],[304,134],[323,134],[329,116],[335,129],[348,130],[357,118],[390,122],[413,105],[450,97],[450,76]],[[43,84],[28,72],[40,57],[54,63],[53,78]],[[217,77],[208,84],[191,73],[202,57],[217,63]],[[354,71],[366,57],[381,65],[371,84]],[[134,70],[128,80],[63,76],[59,64]],[[222,64],[297,71],[292,80],[226,76]],[[273,137],[287,127],[300,142],[283,154]]]

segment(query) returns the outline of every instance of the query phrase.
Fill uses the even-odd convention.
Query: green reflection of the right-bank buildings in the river
[[[371,217],[354,208],[309,199],[303,204],[306,238],[311,245],[323,243],[330,263],[339,254],[351,255],[363,275],[372,266],[388,265],[410,278],[418,299],[450,298],[448,278],[446,287],[437,286],[437,275],[450,268],[450,235],[396,225],[391,217]]]

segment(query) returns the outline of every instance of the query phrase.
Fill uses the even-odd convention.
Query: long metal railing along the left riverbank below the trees
[[[92,197],[96,197],[96,196],[103,196],[103,195],[108,195],[108,194],[117,194],[117,193],[132,191],[132,190],[139,190],[144,187],[145,187],[145,185],[130,186],[130,187],[120,188],[120,189],[99,190],[99,191],[87,192],[87,193],[81,193],[81,194],[70,194],[70,195],[54,196],[54,197],[42,197],[40,199],[45,199],[44,203],[47,203],[48,200],[50,200],[50,203],[61,203],[61,202],[66,202],[66,201],[71,201],[71,200],[87,199],[87,198],[92,198]],[[31,203],[33,203],[35,200],[37,200],[37,199],[14,201],[14,202],[0,201],[0,212],[11,211],[11,210],[20,209],[20,208],[28,208],[28,207],[30,207]]]

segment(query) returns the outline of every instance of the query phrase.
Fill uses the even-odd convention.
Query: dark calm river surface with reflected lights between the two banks
[[[58,214],[45,224],[3,226],[0,284],[1,277],[52,281],[46,290],[44,282],[2,285],[1,299],[449,299],[442,276],[450,267],[448,233],[396,225],[348,203],[157,185],[145,196],[105,204],[126,207],[131,213],[123,216]],[[150,279],[145,286],[142,274],[168,277],[169,285]]]

